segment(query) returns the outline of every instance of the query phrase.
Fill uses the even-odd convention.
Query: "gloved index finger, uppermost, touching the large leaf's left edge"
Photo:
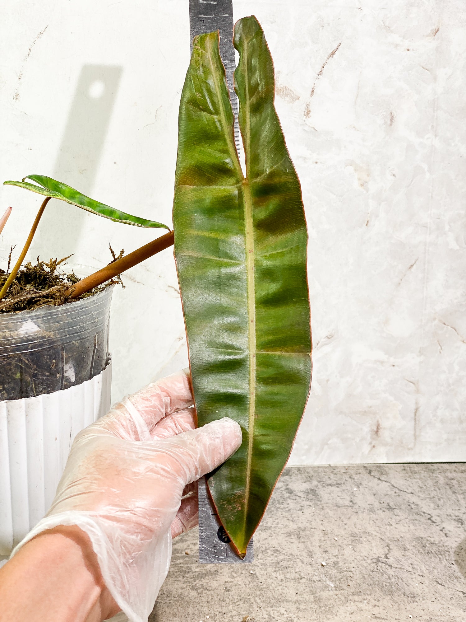
[[[160,420],[192,404],[189,378],[180,372],[124,397],[92,425],[91,432],[110,432],[128,440],[152,440],[151,432]]]

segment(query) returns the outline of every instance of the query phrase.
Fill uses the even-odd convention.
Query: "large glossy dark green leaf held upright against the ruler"
[[[181,94],[173,222],[198,424],[231,417],[240,449],[208,479],[244,556],[290,455],[311,381],[307,230],[255,19],[235,26],[247,174],[234,144],[219,37],[194,39]]]

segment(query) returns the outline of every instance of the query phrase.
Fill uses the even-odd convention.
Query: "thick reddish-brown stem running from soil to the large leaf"
[[[85,279],[78,281],[75,285],[70,287],[66,293],[70,294],[70,298],[77,298],[81,294],[85,294],[85,292],[94,289],[94,287],[98,287],[98,285],[102,285],[104,282],[113,279],[113,277],[116,277],[125,270],[139,264],[141,261],[152,257],[152,255],[160,253],[160,251],[168,248],[171,244],[173,244],[173,231],[165,233],[165,235],[160,236],[160,238],[141,246],[132,253],[129,253],[129,255],[126,255],[126,257],[113,261],[98,272],[86,276]]]

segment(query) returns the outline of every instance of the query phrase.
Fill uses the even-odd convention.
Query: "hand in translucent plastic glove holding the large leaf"
[[[225,417],[195,429],[185,373],[125,397],[80,432],[52,507],[14,549],[42,531],[77,525],[104,583],[131,622],[147,622],[167,576],[171,538],[198,524],[194,483],[241,444]]]

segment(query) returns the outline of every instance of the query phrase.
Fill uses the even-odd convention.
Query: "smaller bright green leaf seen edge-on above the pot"
[[[25,182],[25,179],[32,179],[32,181],[36,183]],[[27,175],[27,177],[23,178],[22,182],[7,181],[3,183],[4,185],[18,186],[19,188],[32,190],[32,192],[37,192],[37,194],[41,194],[44,197],[58,198],[60,201],[66,201],[66,203],[71,203],[71,205],[77,205],[77,207],[81,207],[83,210],[98,214],[116,223],[125,223],[126,225],[145,228],[156,227],[158,229],[168,229],[168,231],[170,231],[170,227],[167,225],[158,223],[155,220],[147,220],[146,218],[139,218],[139,216],[132,216],[125,211],[116,210],[109,205],[105,205],[105,203],[99,203],[93,198],[81,194],[78,190],[75,190],[75,188],[67,186],[66,183],[57,182],[55,179],[52,179],[52,177],[46,177],[45,175]],[[40,185],[36,185],[37,183]]]

